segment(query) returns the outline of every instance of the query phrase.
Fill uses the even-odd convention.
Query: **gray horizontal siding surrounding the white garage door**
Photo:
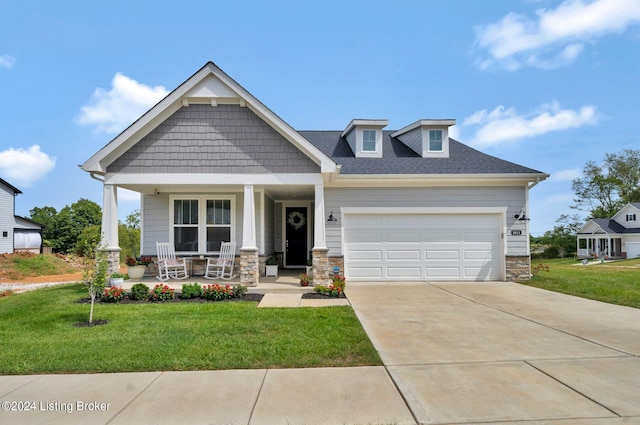
[[[515,222],[513,215],[525,205],[524,187],[434,187],[434,188],[325,188],[325,210],[333,210],[337,223],[326,224],[329,255],[342,255],[340,208],[344,207],[507,207],[506,255],[528,255],[526,222]],[[511,236],[511,230],[522,230]]]

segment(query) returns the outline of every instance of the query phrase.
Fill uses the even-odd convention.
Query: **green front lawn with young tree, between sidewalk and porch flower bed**
[[[80,284],[0,298],[0,374],[380,365],[351,307],[96,304]]]

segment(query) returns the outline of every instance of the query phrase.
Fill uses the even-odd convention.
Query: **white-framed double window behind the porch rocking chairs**
[[[218,252],[222,242],[232,242],[233,198],[194,198],[172,200],[176,252]]]

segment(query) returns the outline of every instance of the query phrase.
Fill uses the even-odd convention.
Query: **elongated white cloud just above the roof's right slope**
[[[502,105],[492,111],[483,109],[467,117],[463,125],[480,126],[470,143],[483,148],[597,121],[593,106],[583,106],[579,110],[561,109],[560,104],[554,101],[527,115],[520,115],[514,108],[506,109]]]

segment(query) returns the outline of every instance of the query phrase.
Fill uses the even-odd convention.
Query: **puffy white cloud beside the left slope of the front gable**
[[[97,88],[93,92],[90,104],[82,107],[78,122],[95,125],[105,133],[119,133],[167,94],[162,86],[150,87],[117,73],[111,90]]]

